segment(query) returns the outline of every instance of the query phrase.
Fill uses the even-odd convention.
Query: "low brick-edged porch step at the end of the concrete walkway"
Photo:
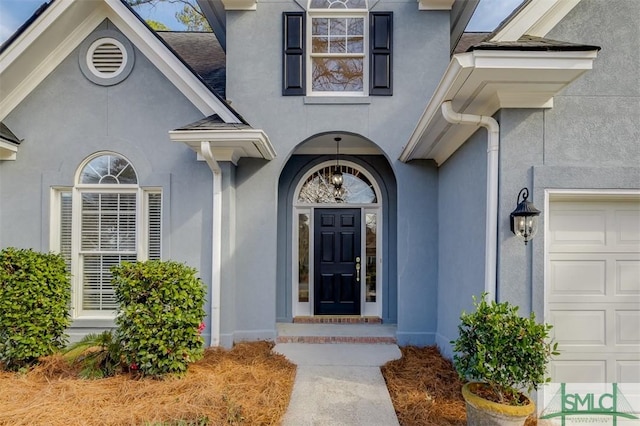
[[[379,323],[278,323],[277,331],[276,343],[397,343],[396,326]]]

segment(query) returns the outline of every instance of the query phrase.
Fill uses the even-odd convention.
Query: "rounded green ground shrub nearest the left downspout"
[[[172,261],[112,268],[125,362],[142,375],[183,373],[202,357],[205,289],[196,270]]]

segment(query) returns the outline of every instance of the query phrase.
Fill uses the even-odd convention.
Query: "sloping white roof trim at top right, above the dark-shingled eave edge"
[[[517,41],[523,35],[544,37],[580,0],[531,0],[490,41]]]

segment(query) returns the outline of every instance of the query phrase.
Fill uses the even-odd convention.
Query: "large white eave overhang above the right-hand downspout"
[[[551,108],[553,97],[590,70],[594,50],[474,50],[454,55],[400,160],[443,164],[476,130],[449,123],[441,105],[463,114],[492,116],[501,108]]]

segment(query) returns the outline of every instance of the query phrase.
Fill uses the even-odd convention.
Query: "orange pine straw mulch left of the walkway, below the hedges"
[[[296,368],[272,343],[209,348],[182,378],[83,380],[61,356],[0,372],[0,425],[279,424]]]

